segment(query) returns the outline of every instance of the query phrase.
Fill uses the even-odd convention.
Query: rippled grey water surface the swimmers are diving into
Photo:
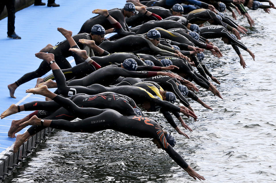
[[[241,41],[256,55],[241,50],[247,63],[239,65],[235,51],[214,41],[224,57],[205,54],[205,63],[219,79],[224,99],[200,89],[197,95],[214,111],[191,101],[199,117],[186,119],[194,130],[190,139],[175,134],[175,150],[203,175],[205,182],[275,182],[275,24],[276,10],[249,11],[256,21]],[[165,129],[172,128],[158,118]],[[39,146],[5,182],[194,182],[150,139],[135,138],[112,130],[94,134],[56,131]]]

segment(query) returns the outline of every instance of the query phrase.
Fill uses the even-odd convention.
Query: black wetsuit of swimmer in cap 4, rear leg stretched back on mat
[[[87,55],[90,55],[90,48],[87,46],[83,46],[83,44],[79,43],[79,39],[88,39],[91,40],[91,36],[87,33],[77,34],[72,37],[77,46],[74,48],[84,49],[87,52]],[[82,63],[84,60],[78,57],[77,55],[72,55],[72,52],[69,51],[70,45],[67,40],[62,41],[58,45],[52,47],[48,53],[53,53],[55,55],[55,61],[61,69],[71,68],[70,63],[66,60],[67,57],[74,56],[76,64]],[[37,70],[33,72],[29,72],[24,74],[20,79],[16,81],[16,84],[19,86],[25,82],[28,82],[34,78],[39,78],[49,72],[51,70],[49,64],[43,60],[37,68]]]

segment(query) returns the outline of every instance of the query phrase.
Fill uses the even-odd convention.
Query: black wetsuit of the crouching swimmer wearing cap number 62
[[[124,31],[130,32],[130,29],[128,28],[127,24],[125,23],[125,16],[123,14],[123,9],[111,9],[108,10],[108,13],[110,16],[112,16],[119,24],[121,24]],[[79,33],[90,33],[91,28],[96,25],[100,24],[104,27],[105,30],[113,28],[112,24],[102,15],[97,15],[95,17],[90,18],[89,20],[86,20],[84,24],[81,26],[81,30]]]

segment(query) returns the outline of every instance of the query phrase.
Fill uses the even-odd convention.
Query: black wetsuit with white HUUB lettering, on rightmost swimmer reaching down
[[[247,47],[239,42],[237,39],[233,38],[230,33],[222,26],[204,26],[200,28],[201,36],[207,38],[207,39],[214,39],[214,38],[220,38],[224,37],[229,40],[229,45],[231,44],[236,53],[239,55],[241,52],[239,51],[240,47],[243,50],[247,50]]]

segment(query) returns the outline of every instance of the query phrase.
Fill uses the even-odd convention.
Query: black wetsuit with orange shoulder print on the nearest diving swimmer
[[[149,117],[123,116],[112,109],[80,108],[71,100],[61,96],[56,96],[53,100],[65,107],[72,115],[83,116],[85,119],[77,122],[52,120],[50,124],[51,128],[69,132],[86,133],[112,129],[140,138],[154,138],[158,140],[162,149],[164,149],[180,167],[188,167],[186,161],[167,143],[159,123]]]

